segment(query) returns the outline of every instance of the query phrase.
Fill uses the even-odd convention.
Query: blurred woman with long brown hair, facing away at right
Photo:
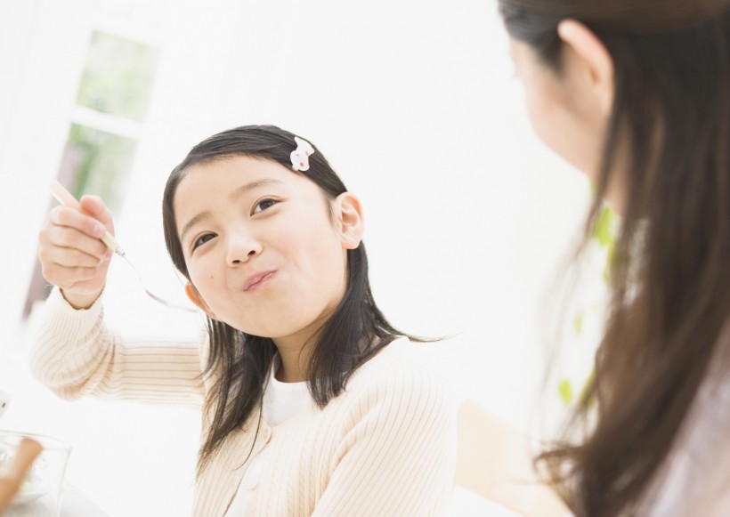
[[[539,137],[622,214],[578,443],[580,516],[730,515],[730,3],[499,0]],[[582,428],[582,427],[581,427]]]

